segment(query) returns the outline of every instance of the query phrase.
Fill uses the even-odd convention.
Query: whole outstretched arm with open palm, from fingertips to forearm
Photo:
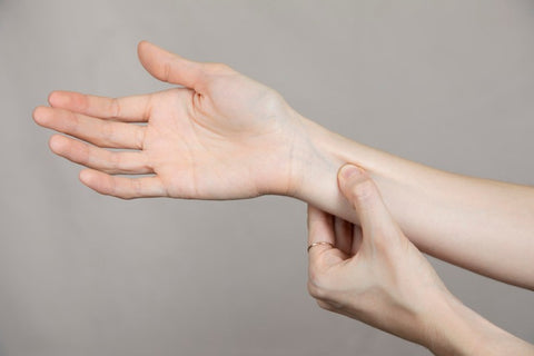
[[[301,117],[276,91],[225,65],[148,42],[138,51],[154,77],[181,87],[119,99],[56,91],[50,107],[33,112],[37,123],[68,135],[52,136],[50,148],[88,167],[80,172],[88,187],[125,199],[287,195],[359,225],[336,180],[339,167],[354,162],[418,249],[534,289],[534,188],[372,149]]]

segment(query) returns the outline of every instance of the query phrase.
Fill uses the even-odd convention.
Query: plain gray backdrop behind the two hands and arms
[[[427,355],[308,297],[304,204],[122,201],[50,154],[31,120],[49,91],[165,88],[141,39],[360,142],[534,184],[532,1],[0,0],[0,355]],[[532,293],[433,264],[534,342]]]

